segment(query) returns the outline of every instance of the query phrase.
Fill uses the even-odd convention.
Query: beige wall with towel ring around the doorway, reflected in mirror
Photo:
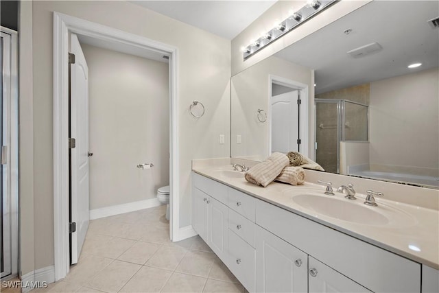
[[[285,78],[307,84],[313,90],[313,71],[292,62],[272,56],[262,60],[232,78],[231,155],[244,159],[263,161],[268,156],[270,124],[257,119],[259,108],[269,113],[271,108],[269,76]],[[311,93],[312,95],[312,93]],[[237,134],[241,143],[237,143]]]

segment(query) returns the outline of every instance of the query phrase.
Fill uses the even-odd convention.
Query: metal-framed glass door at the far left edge
[[[0,38],[0,268],[1,279],[16,277],[19,264],[17,34],[1,27]]]

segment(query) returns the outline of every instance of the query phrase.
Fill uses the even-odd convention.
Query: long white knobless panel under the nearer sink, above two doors
[[[373,292],[420,292],[420,264],[262,200],[256,223]]]

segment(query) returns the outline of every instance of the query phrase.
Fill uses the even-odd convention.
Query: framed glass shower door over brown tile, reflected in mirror
[[[339,172],[340,101],[316,99],[316,162],[327,172]]]

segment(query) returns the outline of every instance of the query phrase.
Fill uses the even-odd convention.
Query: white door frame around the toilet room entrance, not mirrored
[[[54,12],[54,259],[55,281],[69,272],[69,32],[169,55],[171,240],[179,235],[178,49],[112,27]]]

